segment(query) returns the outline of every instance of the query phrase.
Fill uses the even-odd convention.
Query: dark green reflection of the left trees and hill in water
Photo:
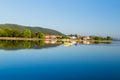
[[[12,40],[2,40],[0,41],[0,49],[6,50],[16,50],[16,49],[41,49],[48,47],[55,47],[57,44],[45,45],[44,41],[12,41]]]

